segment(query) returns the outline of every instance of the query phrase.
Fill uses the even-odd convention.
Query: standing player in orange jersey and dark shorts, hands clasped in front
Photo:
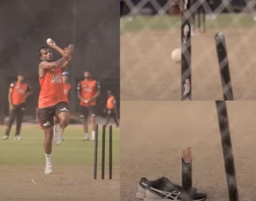
[[[88,116],[90,116],[92,141],[95,140],[95,107],[96,98],[100,95],[100,84],[92,78],[90,70],[85,70],[84,80],[77,85],[77,97],[80,100],[80,118],[82,119],[84,129],[83,141],[89,140],[88,134]]]

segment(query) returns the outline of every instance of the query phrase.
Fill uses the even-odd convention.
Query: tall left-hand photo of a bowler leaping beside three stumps
[[[119,201],[119,2],[0,13],[0,200]]]

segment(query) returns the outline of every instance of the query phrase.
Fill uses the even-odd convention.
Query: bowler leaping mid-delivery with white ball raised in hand
[[[49,46],[55,49],[62,58],[53,61],[51,50],[47,46],[38,49],[40,59],[38,75],[40,82],[40,94],[38,100],[38,116],[40,125],[45,131],[44,149],[46,155],[45,174],[53,172],[51,152],[54,135],[55,144],[62,141],[62,129],[69,124],[69,105],[63,99],[62,71],[66,69],[72,60],[73,44],[62,50],[52,40]],[[54,116],[58,117],[59,123],[54,127]]]

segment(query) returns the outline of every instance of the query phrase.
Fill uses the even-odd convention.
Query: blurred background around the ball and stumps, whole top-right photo
[[[120,61],[122,100],[180,100],[181,46],[178,0],[122,0]],[[191,0],[193,100],[222,100],[215,34],[223,32],[235,100],[256,100],[255,0]],[[192,16],[193,15],[193,16]]]

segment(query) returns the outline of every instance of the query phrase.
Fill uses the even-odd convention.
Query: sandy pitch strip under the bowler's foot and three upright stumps
[[[113,169],[114,180],[93,180],[92,167],[56,166],[50,175],[43,171],[38,166],[0,166],[0,200],[120,200],[119,168]]]

